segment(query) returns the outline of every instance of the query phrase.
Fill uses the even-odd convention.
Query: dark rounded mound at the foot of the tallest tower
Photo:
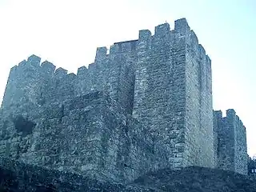
[[[245,175],[199,166],[158,170],[136,179],[134,184],[171,192],[256,191],[256,180]]]

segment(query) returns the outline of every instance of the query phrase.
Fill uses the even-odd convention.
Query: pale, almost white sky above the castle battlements
[[[214,110],[234,108],[256,154],[256,1],[0,0],[0,98],[10,67],[30,54],[76,73],[97,46],[186,18],[212,59]],[[225,113],[224,113],[225,114]]]

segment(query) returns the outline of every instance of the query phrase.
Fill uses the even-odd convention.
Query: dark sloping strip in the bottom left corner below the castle
[[[0,158],[0,192],[83,192],[83,191],[155,191],[139,186],[99,181],[79,174],[47,170]]]

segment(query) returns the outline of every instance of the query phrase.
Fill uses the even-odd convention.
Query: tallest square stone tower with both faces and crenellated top
[[[214,166],[211,63],[186,19],[141,30],[134,118],[148,126],[172,167]]]

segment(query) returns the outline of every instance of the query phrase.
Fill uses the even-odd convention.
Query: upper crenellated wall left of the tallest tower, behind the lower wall
[[[2,108],[8,110],[24,102],[42,106],[46,102],[64,102],[91,91],[104,90],[131,114],[134,97],[132,58],[130,54],[113,51],[106,55],[102,50],[106,49],[98,48],[95,62],[88,69],[80,67],[77,75],[67,74],[62,68],[55,70],[47,61],[40,65],[41,58],[31,55],[10,70]]]

